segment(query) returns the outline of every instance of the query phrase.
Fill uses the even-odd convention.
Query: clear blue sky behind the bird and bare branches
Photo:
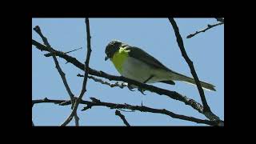
[[[206,99],[214,114],[224,120],[224,26],[214,27],[206,33],[187,39],[188,34],[202,30],[207,24],[216,23],[216,19],[175,18],[175,20],[182,34],[186,52],[194,62],[199,79],[216,86],[216,92],[205,91]],[[32,18],[32,38],[42,43],[42,39],[33,30],[34,26],[41,27],[42,33],[56,50],[66,52],[82,47],[82,50],[72,52],[70,55],[80,62],[85,61],[86,25],[84,18]],[[167,18],[90,18],[90,33],[92,46],[90,67],[95,70],[119,75],[110,61],[104,61],[106,44],[113,39],[118,39],[146,50],[171,70],[191,77],[189,66],[182,58],[174,30]],[[58,70],[54,66],[53,58],[46,58],[43,54],[45,52],[32,46],[32,99],[46,97],[69,99]],[[66,74],[72,92],[78,95],[82,89],[82,78],[77,77],[77,74],[84,74],[84,72],[70,63],[65,64],[66,61],[62,58],[58,58],[58,62]],[[162,83],[153,85],[177,91],[201,103],[196,86],[183,82],[176,82],[174,86]],[[94,97],[102,102],[131,105],[141,105],[143,102],[144,106],[205,119],[204,115],[186,106],[183,102],[148,91],[145,94],[146,96],[142,97],[138,91],[110,88],[110,86],[88,79],[87,92],[83,99],[90,100],[90,97]],[[94,106],[90,110],[81,111],[83,106],[78,107],[81,126],[124,126],[122,120],[114,114],[115,110]],[[59,126],[70,112],[70,106],[36,104],[32,110],[32,119],[36,126]],[[126,116],[131,126],[205,126],[170,118],[163,114],[140,111],[122,112],[122,114]],[[70,122],[69,126],[74,126],[74,121]]]

